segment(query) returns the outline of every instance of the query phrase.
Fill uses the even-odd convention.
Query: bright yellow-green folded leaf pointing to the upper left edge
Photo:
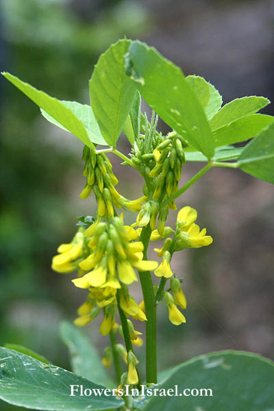
[[[45,92],[37,90],[25,82],[21,82],[20,79],[10,73],[2,73],[3,76],[8,79],[14,86],[21,90],[29,99],[34,101],[40,108],[45,110],[47,114],[53,117],[58,123],[60,123],[65,129],[69,130],[79,140],[84,142],[88,147],[92,148],[92,142],[88,137],[88,133],[82,124],[77,119],[77,116],[67,108],[63,103],[54,97],[50,97]]]

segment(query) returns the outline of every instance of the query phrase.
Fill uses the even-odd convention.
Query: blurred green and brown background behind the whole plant
[[[273,99],[269,10],[273,1],[2,0],[1,70],[49,95],[88,103],[88,79],[99,54],[127,36],[155,46],[184,73],[206,77],[225,102],[245,95]],[[5,79],[0,87],[0,345],[25,345],[69,368],[58,324],[75,318],[86,292],[73,287],[73,275],[51,271],[51,258],[71,240],[76,217],[95,212],[94,201],[79,199],[82,143],[47,123]],[[264,112],[273,115],[273,107]],[[125,138],[119,149],[129,152]],[[121,192],[138,197],[140,177],[111,160]],[[198,168],[188,164],[182,181]],[[187,323],[171,325],[160,308],[159,368],[229,348],[272,358],[273,186],[238,170],[213,170],[177,201],[178,208],[187,204],[197,208],[197,222],[214,243],[184,251],[173,262],[184,275]],[[136,287],[135,295],[140,301]],[[100,321],[84,332],[102,354],[108,338],[97,332]],[[142,358],[144,348],[136,351]]]

